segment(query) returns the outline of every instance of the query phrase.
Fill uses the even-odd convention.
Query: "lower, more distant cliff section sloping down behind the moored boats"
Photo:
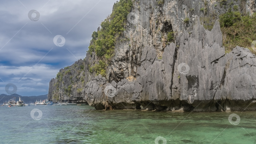
[[[84,83],[90,79],[90,75],[88,75],[89,62],[89,57],[87,57],[84,60],[76,61],[71,66],[60,69],[57,77],[50,81],[48,99],[55,102],[61,100],[85,102]]]

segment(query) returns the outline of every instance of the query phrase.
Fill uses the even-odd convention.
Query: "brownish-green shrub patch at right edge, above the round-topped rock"
[[[232,51],[238,45],[255,53],[251,48],[253,40],[256,40],[255,21],[256,13],[250,16],[229,10],[226,14],[220,15],[223,45],[226,52]]]

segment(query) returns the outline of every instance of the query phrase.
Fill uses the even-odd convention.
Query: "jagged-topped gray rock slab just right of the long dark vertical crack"
[[[212,31],[196,21],[192,35],[184,33],[180,40],[174,67],[173,99],[186,101],[193,107],[205,107],[215,97],[225,66],[222,33],[216,22]]]

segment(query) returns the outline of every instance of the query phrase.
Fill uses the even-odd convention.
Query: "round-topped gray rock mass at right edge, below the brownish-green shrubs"
[[[215,99],[220,100],[224,110],[255,110],[255,55],[237,46],[225,58],[224,74]]]

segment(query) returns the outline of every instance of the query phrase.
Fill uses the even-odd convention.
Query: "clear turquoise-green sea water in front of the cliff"
[[[39,111],[33,114],[33,109]],[[256,143],[256,112],[93,109],[88,105],[0,106],[0,143]],[[229,123],[232,113],[240,117],[239,124]]]

